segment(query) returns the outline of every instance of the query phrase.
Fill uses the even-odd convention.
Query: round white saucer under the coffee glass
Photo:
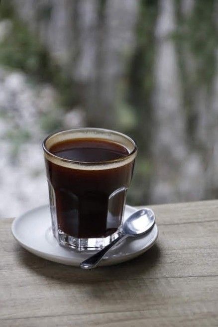
[[[126,206],[124,219],[136,211]],[[35,208],[22,216],[15,218],[11,226],[14,238],[26,250],[47,260],[71,266],[79,266],[80,262],[88,258],[94,251],[65,249],[54,238],[51,230],[51,217],[49,206]],[[108,266],[135,258],[148,250],[158,236],[157,225],[147,234],[133,238],[128,237],[122,243],[111,249],[101,266]]]

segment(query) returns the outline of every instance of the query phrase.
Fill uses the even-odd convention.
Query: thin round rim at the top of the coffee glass
[[[99,131],[99,132],[102,131],[102,132],[106,132],[106,133],[108,132],[108,133],[116,134],[116,135],[122,136],[125,139],[127,139],[128,141],[130,141],[132,143],[132,145],[133,145],[133,150],[128,155],[126,155],[125,157],[121,157],[121,158],[118,158],[118,159],[100,161],[100,162],[89,162],[89,161],[76,161],[76,160],[61,158],[61,157],[53,154],[52,152],[50,152],[49,149],[47,149],[46,142],[50,137],[60,135],[60,134],[63,134],[63,133],[70,133],[70,132],[74,132],[74,131],[75,132],[76,131],[78,131],[78,132],[79,131]],[[96,136],[96,138],[98,138],[98,136]],[[101,139],[101,137],[99,137],[99,139]],[[116,142],[114,142],[114,143],[116,143]],[[48,157],[51,157],[51,158],[53,158],[55,160],[59,160],[59,161],[61,161],[63,163],[66,163],[66,164],[74,164],[74,165],[79,165],[79,166],[82,165],[82,166],[87,166],[87,167],[102,166],[102,165],[108,165],[108,164],[111,165],[111,164],[115,164],[115,163],[121,163],[121,162],[124,162],[124,161],[128,160],[133,155],[135,157],[136,152],[137,152],[137,144],[134,141],[134,139],[132,139],[130,136],[125,135],[125,134],[123,134],[121,132],[112,130],[112,129],[98,128],[98,127],[96,127],[96,128],[95,127],[80,127],[80,128],[64,129],[64,130],[61,130],[61,131],[58,131],[58,132],[55,132],[55,133],[51,133],[42,142],[42,147],[43,147],[43,150],[47,154]]]

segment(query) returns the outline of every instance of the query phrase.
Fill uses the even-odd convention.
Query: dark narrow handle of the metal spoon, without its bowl
[[[120,234],[116,239],[114,239],[111,243],[105,246],[102,250],[93,254],[91,257],[84,260],[83,262],[81,262],[80,267],[83,269],[95,268],[99,264],[99,262],[103,259],[105,254],[109,251],[109,249],[111,249],[111,247],[113,247],[121,239],[124,239],[126,236],[127,236],[126,234]]]

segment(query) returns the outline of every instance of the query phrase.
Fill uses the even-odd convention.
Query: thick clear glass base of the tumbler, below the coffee
[[[101,250],[109,243],[111,243],[114,239],[116,239],[121,233],[120,229],[117,229],[113,234],[107,237],[98,237],[98,238],[77,238],[74,236],[70,236],[65,234],[60,229],[58,230],[58,243],[67,248],[73,248],[78,251],[85,250]]]

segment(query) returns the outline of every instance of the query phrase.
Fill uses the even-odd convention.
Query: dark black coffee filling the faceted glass
[[[120,144],[93,138],[59,142],[50,152],[64,159],[90,163],[129,154]],[[114,233],[121,223],[133,165],[134,161],[112,169],[83,170],[59,166],[46,159],[48,179],[55,193],[58,228],[77,238]]]

